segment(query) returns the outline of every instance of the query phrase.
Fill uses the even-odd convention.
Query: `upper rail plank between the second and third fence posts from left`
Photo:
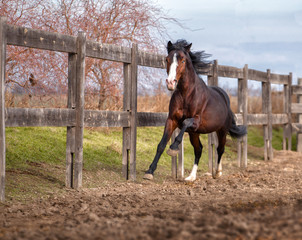
[[[104,60],[131,63],[131,49],[88,40],[86,56]]]

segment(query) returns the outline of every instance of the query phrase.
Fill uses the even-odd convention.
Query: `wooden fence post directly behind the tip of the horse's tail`
[[[247,81],[248,81],[248,65],[243,68],[243,78],[238,79],[238,112],[242,114],[243,125],[247,126]],[[238,166],[247,167],[247,135],[238,139]]]

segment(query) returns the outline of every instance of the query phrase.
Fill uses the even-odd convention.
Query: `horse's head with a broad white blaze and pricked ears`
[[[179,79],[182,78],[186,70],[186,64],[190,59],[188,53],[191,46],[192,43],[184,46],[182,49],[173,49],[173,44],[170,41],[168,42],[168,56],[166,58],[168,78],[166,79],[166,84],[170,91],[175,90]]]

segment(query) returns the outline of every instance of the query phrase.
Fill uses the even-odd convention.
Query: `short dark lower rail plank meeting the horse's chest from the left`
[[[137,126],[138,127],[165,126],[167,118],[168,118],[168,113],[138,112]]]

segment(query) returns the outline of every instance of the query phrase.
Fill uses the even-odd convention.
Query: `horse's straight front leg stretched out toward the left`
[[[176,127],[177,127],[176,121],[173,121],[173,120],[168,118],[167,121],[166,121],[163,137],[162,137],[161,141],[159,142],[159,144],[157,146],[157,150],[156,150],[154,160],[151,163],[148,171],[146,171],[146,173],[144,175],[144,179],[148,179],[148,180],[153,179],[153,173],[157,168],[157,163],[159,161],[159,158],[162,155],[163,151],[165,150],[165,148],[167,146],[167,143],[170,140],[170,138],[172,136],[172,133],[176,129]]]

